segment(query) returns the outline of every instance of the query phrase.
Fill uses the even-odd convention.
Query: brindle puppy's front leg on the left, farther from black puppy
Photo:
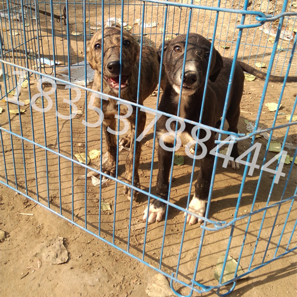
[[[108,152],[107,163],[103,165],[102,171],[111,176],[115,176],[116,168],[116,138],[114,134],[107,131],[107,127],[115,131],[115,119],[104,119],[102,123],[102,129],[105,134],[106,149]]]

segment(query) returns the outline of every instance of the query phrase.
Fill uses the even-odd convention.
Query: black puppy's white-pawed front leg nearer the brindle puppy
[[[172,144],[166,144],[166,147],[172,148]],[[165,150],[160,145],[158,146],[158,176],[157,176],[157,196],[163,199],[168,198],[168,188],[169,188],[169,174],[172,161],[172,151]],[[166,204],[153,199],[144,211],[144,221],[148,217],[148,223],[159,222],[162,220],[163,214],[166,209]]]

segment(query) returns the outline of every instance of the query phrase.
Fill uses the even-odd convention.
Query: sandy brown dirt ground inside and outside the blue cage
[[[49,7],[49,5],[46,7]],[[81,6],[77,7],[81,8]],[[55,4],[54,8],[54,11],[58,13],[59,6]],[[81,9],[75,10],[73,5],[69,5],[69,9],[71,11],[71,18],[69,19],[70,32],[81,32],[82,24],[79,21],[82,17]],[[143,8],[140,5],[135,6],[134,12],[131,11],[131,8],[130,10],[128,9],[129,5],[125,6],[124,20],[131,24],[133,27],[132,31],[137,36],[140,26],[134,24],[134,19],[141,16],[141,9]],[[179,8],[175,9],[178,10]],[[254,3],[254,9],[260,9],[257,1]],[[267,8],[268,11],[269,9]],[[277,6],[277,9],[280,8]],[[88,24],[91,26],[94,26],[96,21],[101,17],[98,11],[99,8],[96,15],[94,9],[90,9],[88,12]],[[157,47],[160,44],[161,38],[162,11],[163,8],[161,7],[146,6],[146,22],[149,23],[155,20],[155,16],[157,15],[158,25],[157,28],[147,29],[148,32],[146,31],[145,41]],[[187,13],[187,9],[178,10],[178,13],[177,11],[173,11],[173,9],[170,10],[168,16],[168,35],[185,32],[183,30],[187,28],[184,25],[187,24]],[[200,10],[199,13],[196,11],[195,13],[192,31],[198,30],[198,32],[206,36],[209,28],[213,28],[213,15],[209,11],[203,10]],[[107,15],[119,16],[119,14],[120,6],[109,5],[107,7],[106,5],[106,18]],[[204,28],[203,22],[198,22],[198,20],[203,18],[204,26],[205,28],[207,27],[207,30]],[[179,20],[178,23],[183,24],[185,27],[181,28],[181,26],[178,26],[176,23],[177,19]],[[205,21],[205,19],[209,21]],[[77,21],[75,22],[75,20]],[[219,19],[219,23],[222,28],[225,26],[224,28],[228,29],[225,31],[221,30],[220,36],[217,36],[220,43],[216,42],[216,48],[219,49],[221,54],[232,56],[234,53],[234,42],[236,41],[236,36],[232,37],[232,32],[236,32],[237,34],[237,31],[234,31],[234,26],[238,23],[236,15],[225,13]],[[65,40],[65,28],[60,27],[63,26],[63,22],[55,22],[54,25],[56,29],[56,37],[54,39],[54,47],[57,52],[56,58],[61,64],[64,64],[67,61],[68,46],[67,40]],[[46,57],[52,58],[49,55],[53,46],[49,27],[49,17],[41,18],[41,32],[44,36],[40,40],[42,43],[40,49]],[[15,28],[23,27],[16,25]],[[93,29],[88,28],[88,30],[90,32]],[[251,60],[254,61],[255,50],[252,46],[249,47],[248,44],[256,45],[258,43],[265,45],[268,36],[265,36],[265,41],[264,38],[261,39],[262,35],[258,29],[253,30],[252,33],[251,31],[249,31],[249,34],[245,32],[248,36],[248,38],[246,37],[247,46],[241,47],[240,57],[243,56],[247,60],[247,57],[250,56]],[[31,30],[32,32],[34,30]],[[226,43],[225,40],[229,42]],[[11,46],[9,42],[11,40],[8,40],[8,45]],[[32,41],[29,44],[30,49],[33,50]],[[226,49],[226,44],[229,46],[229,49]],[[72,36],[69,45],[71,50],[69,58],[71,62],[83,61],[83,37]],[[283,47],[291,49],[292,43],[283,42]],[[268,64],[270,54],[269,49],[266,50],[264,51],[263,48],[259,47],[257,54],[261,56],[262,62]],[[285,51],[279,51],[277,55],[277,63],[275,63],[276,67],[274,71],[276,74],[281,74],[283,73],[282,64],[284,61],[287,63],[288,55]],[[24,61],[24,55],[20,52],[7,54],[6,58],[8,57],[11,59],[14,58],[13,61],[16,64],[21,63],[21,61],[23,63]],[[34,60],[29,61],[29,68],[32,67],[33,69]],[[292,75],[296,74],[296,67],[296,64],[294,65],[293,63]],[[51,68],[43,69],[43,71],[50,73]],[[266,70],[263,69],[263,71]],[[3,84],[1,82],[1,88],[3,88],[2,86]],[[263,86],[264,82],[259,79],[245,83],[239,123],[241,133],[247,133],[247,121],[254,122],[256,119]],[[269,83],[265,103],[278,102],[281,89],[282,84]],[[44,90],[47,92],[50,90],[50,87],[46,86]],[[286,85],[282,98],[282,109],[279,111],[275,125],[288,122],[286,117],[292,113],[292,108],[296,100],[296,91],[296,84],[288,83]],[[21,89],[20,100],[30,99],[30,94],[32,97],[33,94],[38,93],[40,92],[37,89],[36,79],[32,76],[30,88]],[[76,94],[72,92],[71,95],[74,98]],[[89,99],[90,94],[87,94],[87,96]],[[8,115],[6,102],[0,101],[0,107],[3,108],[0,114],[0,124],[3,129],[11,130],[31,141],[35,141],[40,146],[56,152],[46,152],[43,147],[34,146],[30,142],[22,141],[18,137],[11,137],[10,134],[1,132],[1,142],[3,145],[1,145],[0,149],[0,181],[7,183],[12,188],[17,188],[19,192],[39,202],[39,204],[36,204],[34,201],[0,184],[0,230],[3,230],[6,236],[0,243],[1,296],[146,296],[148,282],[150,282],[150,278],[157,272],[131,255],[140,259],[144,257],[144,261],[149,265],[157,269],[160,266],[161,270],[169,275],[175,272],[177,266],[179,266],[178,279],[187,285],[191,284],[202,229],[198,225],[186,226],[185,237],[182,240],[184,229],[183,212],[170,207],[166,229],[164,229],[164,220],[158,224],[151,224],[148,226],[148,233],[145,238],[142,213],[148,203],[148,197],[146,195],[140,194],[137,200],[133,201],[133,207],[131,208],[130,202],[122,194],[123,186],[121,183],[116,184],[114,181],[109,181],[107,187],[101,189],[101,197],[99,197],[99,188],[92,185],[91,179],[87,179],[87,181],[85,179],[77,179],[79,176],[85,174],[85,169],[69,160],[71,150],[75,154],[77,152],[85,152],[86,150],[100,149],[100,129],[88,128],[86,130],[86,127],[82,124],[83,119],[88,122],[97,121],[98,115],[96,112],[90,110],[88,110],[86,115],[85,110],[88,100],[84,99],[85,93],[82,91],[82,99],[76,102],[78,109],[82,110],[82,114],[76,115],[72,121],[61,118],[58,118],[57,121],[55,116],[56,109],[61,114],[69,114],[69,104],[63,102],[64,98],[69,98],[69,93],[64,89],[64,86],[58,86],[56,97],[55,94],[51,94],[50,97],[53,99],[53,107],[46,113],[36,111],[30,105],[25,105],[22,109],[26,111],[21,115]],[[156,108],[156,97],[150,96],[145,101],[145,105]],[[15,108],[15,106],[9,103],[10,109]],[[38,101],[37,106],[42,107],[42,102]],[[270,112],[264,105],[259,127],[271,127],[274,116],[275,112]],[[147,123],[151,120],[152,116],[148,115]],[[284,141],[285,132],[286,128],[278,129],[273,133],[273,136],[277,137],[279,141]],[[264,158],[267,141],[261,137],[257,138],[256,142],[262,144],[257,161],[257,164],[260,164]],[[286,142],[292,143],[296,147],[296,126],[290,128]],[[247,150],[249,143],[250,140],[239,143],[240,153]],[[154,194],[158,166],[155,154],[152,180],[150,181],[153,149],[152,129],[144,138],[143,144],[140,165],[141,185],[142,189],[148,192],[151,182],[151,191]],[[102,145],[102,152],[104,153],[104,138],[102,138]],[[287,150],[290,156],[293,156],[294,149]],[[193,160],[187,157],[183,149],[179,150],[178,153],[184,156],[185,164],[174,167],[174,180],[170,201],[175,205],[185,207],[189,193]],[[124,179],[126,154],[127,152],[123,151],[119,155],[118,178],[120,181]],[[268,152],[267,160],[270,160],[275,154],[274,152]],[[68,157],[68,159],[64,156]],[[243,182],[244,166],[235,172],[231,168],[223,168],[222,163],[223,160],[219,159],[208,218],[229,222],[235,216],[238,193]],[[98,160],[92,160],[89,165],[91,167],[97,166]],[[198,175],[198,165],[199,163],[196,166],[194,180]],[[4,170],[4,167],[6,170]],[[264,172],[259,183],[260,186],[253,210],[262,209],[267,204],[271,205],[280,201],[282,198],[290,198],[296,195],[296,168],[297,165],[294,165],[290,178],[286,182],[290,165],[284,165],[283,172],[286,173],[286,176],[281,177],[280,182],[275,184],[273,188],[271,188],[273,182],[272,174]],[[71,174],[72,171],[73,175]],[[251,211],[259,175],[260,170],[255,169],[252,176],[247,176],[240,202],[239,215],[248,214]],[[193,187],[191,192],[193,195]],[[267,200],[268,197],[270,197],[269,201]],[[111,210],[99,211],[99,200],[110,204]],[[50,208],[52,212],[42,205]],[[53,212],[57,212],[67,220]],[[290,215],[287,217],[288,213]],[[263,216],[265,219],[259,233]],[[291,201],[289,201],[283,203],[281,207],[267,209],[265,214],[263,211],[253,214],[246,236],[247,217],[238,221],[234,229],[228,227],[219,231],[206,231],[195,280],[204,286],[216,286],[218,284],[214,279],[214,267],[219,256],[226,253],[231,232],[233,232],[233,236],[229,255],[233,258],[239,258],[241,247],[245,241],[240,261],[244,271],[253,269],[261,264],[266,247],[265,261],[285,252],[292,234],[289,249],[296,247],[297,233],[296,230],[294,232],[296,218],[296,201],[292,205]],[[71,224],[69,221],[73,221],[76,225]],[[272,229],[274,224],[275,227]],[[80,229],[78,226],[88,229],[89,233]],[[283,230],[283,235],[281,235]],[[102,240],[96,237],[98,235]],[[63,238],[69,259],[63,264],[50,265],[37,256],[36,253],[42,245],[47,244],[49,240],[57,237]],[[114,243],[114,245],[129,252],[131,255],[127,255],[111,247],[107,242]],[[164,249],[160,265],[162,245]],[[180,251],[181,260],[178,262]],[[252,257],[253,261],[251,262]],[[248,278],[237,283],[234,292],[230,296],[296,296],[296,259],[295,250],[255,270],[249,274]],[[181,284],[174,284],[174,288],[181,295],[188,295],[190,292],[189,288]],[[226,289],[222,289],[220,293],[224,292],[226,292]],[[194,292],[193,296],[201,296],[201,294]],[[203,296],[210,297],[216,295],[215,291],[211,291],[204,293]]]

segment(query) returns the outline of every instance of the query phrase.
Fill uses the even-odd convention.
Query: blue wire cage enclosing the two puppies
[[[296,80],[291,82],[297,76],[296,11],[295,1],[2,0],[0,183],[165,274],[178,296],[210,290],[230,293],[238,279],[297,248],[297,95]],[[106,78],[100,75],[107,67],[104,58],[97,60],[98,68],[87,59],[87,52],[93,50],[89,41],[110,26],[117,26],[120,36],[119,80],[110,83],[118,85],[118,95],[104,93]],[[126,32],[134,36],[139,50],[133,64],[137,68],[134,85],[129,81],[136,96],[128,100],[121,96],[126,87]],[[206,108],[214,113],[217,106],[209,107],[206,92],[201,102],[191,103],[190,109],[201,109],[195,119],[183,112],[184,91],[176,95],[175,113],[167,112],[173,104],[170,100],[168,109],[158,109],[172,75],[166,72],[165,64],[173,63],[165,60],[166,47],[185,34],[185,52],[190,52],[190,32],[212,42],[206,77],[215,49],[234,58],[221,122],[209,127],[203,114],[209,112]],[[104,57],[107,49],[116,48],[116,42],[107,40],[103,33],[100,45],[95,43],[98,55]],[[160,70],[148,70],[144,81],[141,67],[150,59],[145,55],[147,46],[151,55],[157,56],[158,49]],[[185,54],[182,59],[184,78],[190,57]],[[232,132],[225,118],[235,88],[232,81],[237,79],[236,60],[268,75],[246,76],[239,132]],[[285,81],[274,82],[270,75],[285,76]],[[142,92],[152,77],[158,84],[143,102]],[[99,81],[102,87],[96,89]],[[206,88],[203,85],[202,90]],[[116,106],[112,115],[116,125],[109,127],[116,141],[114,172],[106,170],[110,139],[102,126],[110,115],[108,108],[100,109],[104,102]],[[137,131],[143,114],[144,132],[129,138],[126,123],[133,124],[127,119],[135,116]],[[216,134],[205,215],[189,208],[202,166],[194,156],[197,142],[203,148],[203,141],[195,136],[192,157],[180,146],[170,158],[168,199],[157,194],[162,168],[156,123],[161,115],[180,123],[172,130],[174,146],[183,123],[200,134],[206,130]],[[239,170],[226,166],[235,142]],[[128,177],[128,163],[132,160],[131,166],[138,167],[137,143],[142,143],[139,169]],[[147,207],[154,199],[165,203],[165,213],[158,224],[148,224]],[[191,215],[201,225],[187,224]],[[230,257],[236,259],[231,272]]]

